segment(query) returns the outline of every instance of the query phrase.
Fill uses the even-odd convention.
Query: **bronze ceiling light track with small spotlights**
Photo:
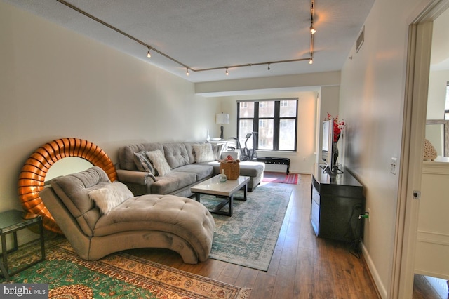
[[[194,67],[189,67],[188,65],[185,65],[184,63],[180,62],[179,60],[176,60],[175,58],[171,57],[170,55],[167,55],[166,53],[163,53],[159,51],[156,48],[153,48],[149,44],[146,44],[143,41],[140,41],[140,39],[136,39],[134,36],[131,36],[130,34],[127,34],[126,32],[123,32],[122,30],[110,25],[109,23],[100,20],[99,18],[95,17],[94,15],[91,15],[90,13],[87,13],[86,11],[81,10],[80,8],[74,6],[73,4],[69,4],[67,1],[64,0],[56,0],[60,4],[64,4],[65,6],[72,8],[74,11],[77,11],[78,13],[81,13],[82,15],[86,15],[86,17],[90,18],[91,20],[94,20],[95,22],[99,22],[101,25],[104,25],[105,27],[108,27],[109,29],[114,30],[115,32],[128,37],[128,39],[131,39],[135,41],[138,44],[141,44],[142,46],[145,46],[145,48],[148,49],[147,52],[147,58],[151,58],[150,51],[153,51],[155,53],[158,53],[159,55],[162,55],[165,58],[168,58],[169,60],[175,62],[177,65],[181,65],[186,69],[186,75],[189,76],[189,70],[192,72],[206,72],[206,71],[213,71],[217,69],[225,69],[226,75],[229,74],[228,69],[238,68],[238,67],[252,67],[256,65],[268,65],[268,70],[270,69],[270,65],[276,64],[276,63],[286,63],[286,62],[298,62],[298,61],[304,61],[308,60],[309,64],[313,63],[313,53],[314,53],[314,34],[316,32],[316,29],[314,29],[314,0],[311,0],[310,2],[310,57],[309,58],[298,58],[298,59],[288,59],[288,60],[276,60],[276,61],[269,61],[269,62],[256,62],[256,63],[246,63],[243,65],[229,65],[225,67],[208,67],[203,69],[197,69]]]

